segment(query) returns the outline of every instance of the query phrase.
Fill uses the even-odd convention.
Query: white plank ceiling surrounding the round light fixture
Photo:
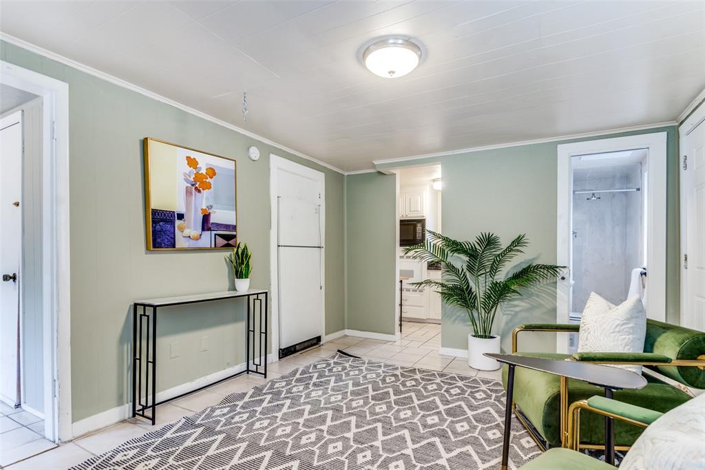
[[[705,1],[13,1],[0,30],[343,170],[673,121],[705,88]],[[415,37],[388,80],[360,47]],[[242,93],[250,112],[243,122]]]

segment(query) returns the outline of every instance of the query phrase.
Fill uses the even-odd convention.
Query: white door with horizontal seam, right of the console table
[[[324,174],[274,155],[271,171],[274,339],[283,349],[324,334]]]

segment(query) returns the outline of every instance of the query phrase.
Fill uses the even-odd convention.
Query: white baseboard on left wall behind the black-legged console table
[[[267,355],[267,363],[271,364],[278,361],[276,354]],[[245,370],[245,363],[238,364],[227,369],[219,370],[209,375],[204,375],[203,377],[197,378],[196,380],[191,380],[190,382],[183,383],[181,385],[176,385],[176,387],[171,387],[167,390],[162,390],[157,392],[157,402],[163,402],[164,400],[172,399],[178,397],[180,394],[187,393],[189,390],[194,390],[200,387],[204,387],[212,382],[217,382],[222,380],[228,375],[233,375],[238,372]],[[157,406],[159,409],[159,406]],[[125,403],[120,406],[116,406],[106,411],[101,411],[93,416],[88,416],[79,421],[75,421],[71,426],[71,433],[73,437],[71,440],[78,439],[83,435],[92,433],[93,431],[107,428],[117,423],[121,423],[126,419],[130,418],[130,413],[132,412],[132,402]],[[64,441],[66,442],[66,441]]]

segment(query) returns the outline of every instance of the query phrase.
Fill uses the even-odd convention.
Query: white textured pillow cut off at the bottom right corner
[[[651,423],[627,452],[620,470],[705,469],[705,394]]]

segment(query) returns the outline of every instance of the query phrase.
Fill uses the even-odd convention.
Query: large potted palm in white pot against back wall
[[[405,248],[412,258],[439,262],[443,279],[426,279],[414,285],[436,289],[441,300],[467,312],[472,333],[467,335],[467,364],[479,370],[496,370],[499,363],[484,353],[500,352],[501,337],[492,334],[498,308],[527,289],[556,277],[561,266],[530,263],[502,279],[500,274],[529,241],[525,234],[502,247],[498,236],[479,234],[474,241],[457,241],[435,231],[427,231],[427,239],[417,246]]]

